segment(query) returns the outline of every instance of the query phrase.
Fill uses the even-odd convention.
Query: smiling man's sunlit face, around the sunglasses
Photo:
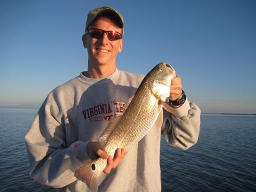
[[[90,28],[99,28],[102,30],[114,30],[121,33],[121,28],[117,26],[110,18],[98,17]],[[93,38],[89,34],[83,35],[83,45],[88,51],[88,62],[96,65],[115,64],[116,55],[122,50],[122,39],[109,40],[106,33],[101,38]]]

